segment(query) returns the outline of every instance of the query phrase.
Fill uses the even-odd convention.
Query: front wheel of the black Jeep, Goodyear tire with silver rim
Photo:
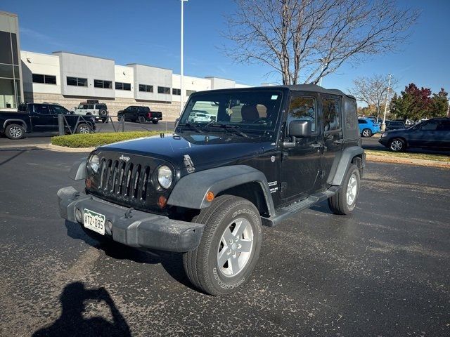
[[[193,222],[204,223],[205,228],[197,249],[183,256],[192,284],[213,296],[226,295],[245,284],[261,250],[261,217],[255,205],[247,199],[222,195]],[[221,262],[220,253],[224,256]]]

